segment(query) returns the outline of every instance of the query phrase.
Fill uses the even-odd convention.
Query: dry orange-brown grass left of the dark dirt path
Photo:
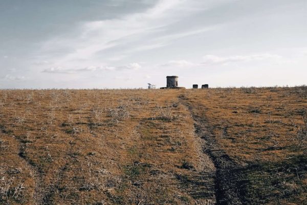
[[[178,92],[1,91],[2,203],[214,200],[213,194],[193,198],[178,179],[214,169],[202,157]]]

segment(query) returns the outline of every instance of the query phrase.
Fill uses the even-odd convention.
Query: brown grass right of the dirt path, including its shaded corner
[[[189,90],[184,97],[237,165],[243,203],[307,203],[306,87]]]

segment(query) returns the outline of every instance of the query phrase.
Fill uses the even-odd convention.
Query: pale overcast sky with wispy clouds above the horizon
[[[0,88],[307,84],[306,0],[0,0]]]

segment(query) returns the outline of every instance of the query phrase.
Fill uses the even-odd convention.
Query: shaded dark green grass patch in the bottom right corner
[[[307,157],[296,156],[279,163],[258,163],[248,167],[243,173],[246,180],[242,187],[246,200],[250,204],[265,204],[278,199],[303,204],[305,199],[297,196],[307,192],[307,186],[303,184],[306,178]]]

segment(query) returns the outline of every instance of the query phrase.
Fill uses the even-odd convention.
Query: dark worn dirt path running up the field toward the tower
[[[192,106],[184,94],[179,98],[194,119],[195,134],[203,140],[203,152],[210,157],[216,168],[214,176],[216,204],[243,204],[242,195],[244,193],[241,189],[242,182],[239,180],[242,178],[240,171],[243,168],[218,146],[210,122],[206,116],[199,115],[198,110],[204,108]]]

